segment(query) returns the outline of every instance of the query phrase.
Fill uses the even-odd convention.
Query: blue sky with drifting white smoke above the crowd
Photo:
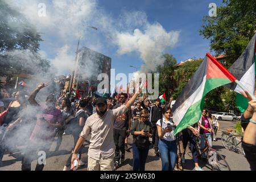
[[[137,67],[152,71],[169,53],[177,63],[203,58],[210,52],[209,40],[199,35],[209,3],[220,0],[10,0],[42,34],[40,54],[69,74],[75,60],[77,41],[112,58],[115,73],[129,73]],[[39,3],[46,16],[38,16]],[[97,27],[94,30],[89,26]],[[214,52],[210,52],[214,55]],[[130,67],[132,65],[133,67]]]

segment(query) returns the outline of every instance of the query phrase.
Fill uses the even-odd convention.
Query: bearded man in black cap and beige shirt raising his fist
[[[80,138],[72,151],[71,163],[78,160],[77,152],[91,133],[90,146],[88,150],[88,171],[113,171],[115,143],[113,138],[114,121],[129,110],[134,101],[141,93],[141,89],[125,104],[117,109],[108,110],[106,98],[97,98],[96,113],[87,119]]]

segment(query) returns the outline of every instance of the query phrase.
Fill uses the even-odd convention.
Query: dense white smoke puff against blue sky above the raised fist
[[[159,24],[147,23],[142,31],[135,29],[133,34],[120,32],[117,34],[115,43],[118,45],[118,53],[125,54],[139,52],[144,61],[141,72],[154,71],[157,65],[164,62],[162,55],[167,48],[174,47],[179,38],[179,31],[167,32]]]

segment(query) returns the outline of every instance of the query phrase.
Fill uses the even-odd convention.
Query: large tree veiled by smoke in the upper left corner
[[[42,41],[39,32],[23,14],[2,0],[0,40],[0,76],[11,78],[19,73],[46,73],[51,67],[49,61],[41,59],[37,53]]]

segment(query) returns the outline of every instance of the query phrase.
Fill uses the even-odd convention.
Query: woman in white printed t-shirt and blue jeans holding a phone
[[[156,122],[158,127],[158,148],[161,154],[162,170],[173,171],[176,164],[177,145],[174,136],[175,124],[172,121],[172,110],[166,106],[163,108],[162,119]]]

